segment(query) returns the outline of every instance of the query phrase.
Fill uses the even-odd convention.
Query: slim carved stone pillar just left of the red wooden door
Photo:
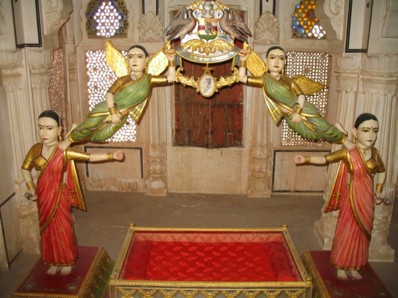
[[[147,127],[144,151],[146,195],[165,196],[167,194],[165,88],[158,87],[152,90],[151,100],[144,116]]]

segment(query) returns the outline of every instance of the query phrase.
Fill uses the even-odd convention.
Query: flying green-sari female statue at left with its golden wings
[[[60,145],[61,149],[67,148],[72,143],[100,142],[109,139],[124,125],[129,114],[138,122],[152,86],[176,80],[175,50],[171,49],[169,44],[151,60],[148,52],[139,45],[132,46],[125,59],[110,41],[106,42],[105,54],[108,64],[120,76],[108,89],[106,100],[91,110],[86,120]],[[168,61],[167,76],[154,75],[163,72],[164,61]],[[148,62],[151,65],[148,65]]]

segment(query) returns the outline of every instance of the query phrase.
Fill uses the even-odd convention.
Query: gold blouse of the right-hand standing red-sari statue
[[[375,173],[385,172],[386,168],[384,167],[384,163],[380,156],[379,151],[374,147],[371,147],[371,149],[372,149],[372,156],[371,156],[371,158],[369,158],[368,160],[365,161],[365,165],[366,165],[366,169],[367,169],[368,173],[373,175]],[[350,169],[350,166],[348,166],[348,159],[349,159],[348,154],[349,154],[349,151],[345,148],[331,152],[331,153],[325,155],[326,162],[330,163],[330,162],[334,162],[334,161],[343,160],[347,165],[347,167],[346,167],[347,171],[350,172],[351,169]]]

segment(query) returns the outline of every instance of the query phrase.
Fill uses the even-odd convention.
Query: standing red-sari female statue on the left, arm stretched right
[[[22,164],[22,177],[30,198],[37,200],[40,225],[41,258],[50,268],[49,275],[60,270],[68,275],[78,259],[71,206],[86,210],[76,173],[76,161],[121,160],[122,151],[93,153],[57,147],[62,127],[57,112],[46,110],[38,119],[41,143],[32,146]],[[31,170],[39,171],[36,185]]]

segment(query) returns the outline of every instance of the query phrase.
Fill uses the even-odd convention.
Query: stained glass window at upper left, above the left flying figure
[[[86,10],[89,37],[126,36],[128,10],[123,0],[91,0]]]

